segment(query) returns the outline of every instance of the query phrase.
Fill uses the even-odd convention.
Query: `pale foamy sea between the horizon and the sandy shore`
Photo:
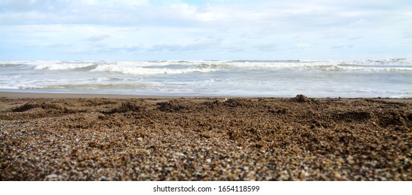
[[[412,59],[2,61],[0,91],[219,97],[412,98]]]

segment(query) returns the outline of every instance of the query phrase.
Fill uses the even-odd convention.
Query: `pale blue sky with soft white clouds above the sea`
[[[410,0],[0,0],[0,61],[395,58]]]

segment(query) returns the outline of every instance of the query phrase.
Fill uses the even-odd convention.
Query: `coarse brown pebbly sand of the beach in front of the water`
[[[412,180],[411,99],[0,96],[0,180]]]

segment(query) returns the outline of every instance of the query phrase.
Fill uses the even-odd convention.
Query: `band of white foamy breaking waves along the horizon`
[[[347,60],[347,61],[2,61],[0,65],[32,65],[35,70],[73,70],[90,67],[92,71],[125,74],[182,74],[209,72],[227,68],[271,68],[340,71],[404,71],[412,70],[411,59]],[[179,70],[168,66],[180,66]]]

